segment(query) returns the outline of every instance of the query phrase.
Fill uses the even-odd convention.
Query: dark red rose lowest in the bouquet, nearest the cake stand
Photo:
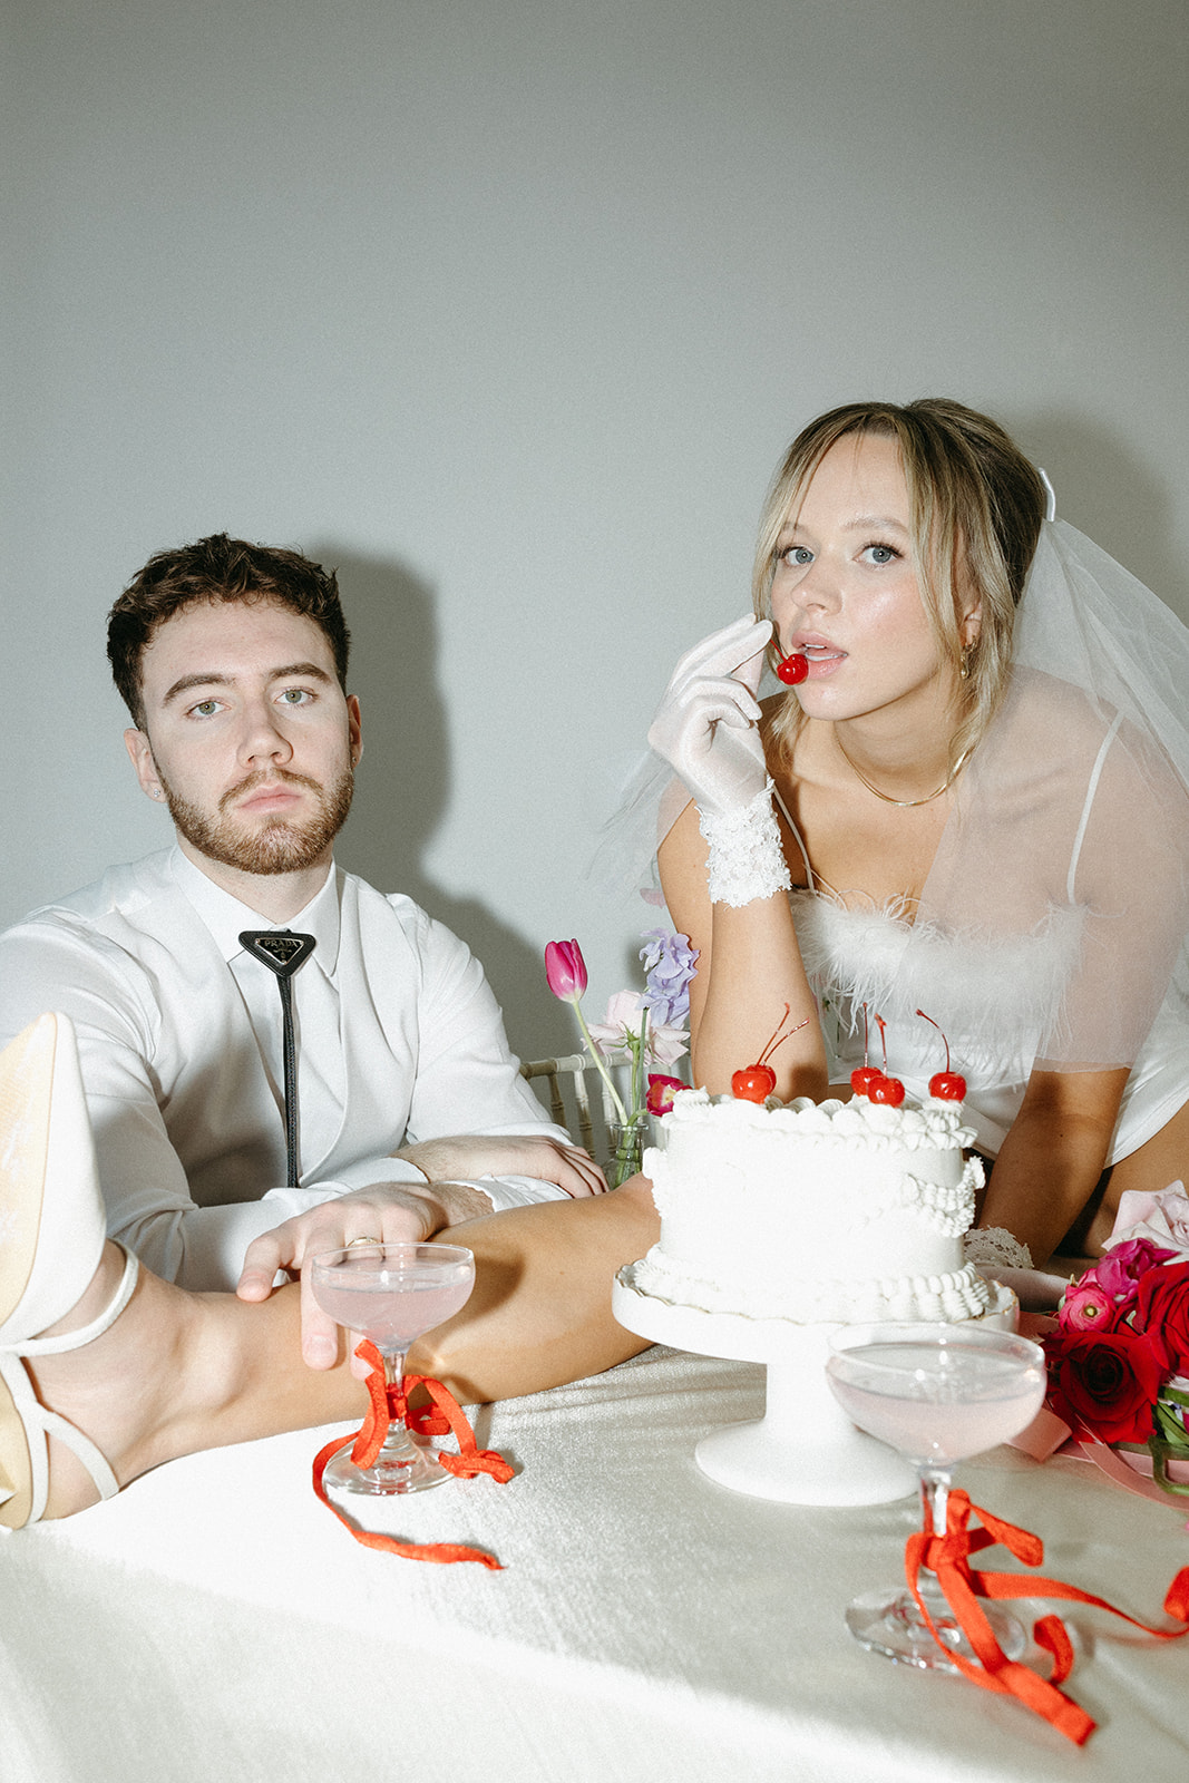
[[[1146,1442],[1168,1357],[1150,1332],[1054,1332],[1045,1339],[1048,1403],[1102,1442]]]

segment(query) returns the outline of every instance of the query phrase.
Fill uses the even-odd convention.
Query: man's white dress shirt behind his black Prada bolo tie
[[[70,1015],[109,1232],[185,1287],[234,1287],[248,1243],[373,1182],[424,1182],[390,1154],[447,1134],[567,1134],[519,1075],[469,949],[410,899],[332,868],[283,927],[316,938],[291,979],[299,1182],[283,1187],[282,1007],[244,954],[257,911],[180,849],[112,867],[0,936],[0,1038]],[[483,1177],[494,1209],[558,1200]]]

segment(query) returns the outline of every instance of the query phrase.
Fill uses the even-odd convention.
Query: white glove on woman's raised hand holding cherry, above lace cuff
[[[768,785],[759,742],[759,678],[768,619],[736,619],[702,638],[672,672],[649,744],[668,761],[704,817],[743,811]]]

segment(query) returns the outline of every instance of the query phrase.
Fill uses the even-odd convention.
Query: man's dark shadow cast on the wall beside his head
[[[364,717],[364,761],[339,863],[380,892],[405,892],[458,934],[487,970],[521,1057],[572,1052],[567,1015],[544,961],[481,900],[426,879],[421,861],[449,804],[446,703],[437,681],[435,592],[398,563],[314,544],[339,572],[351,628],[349,690]]]

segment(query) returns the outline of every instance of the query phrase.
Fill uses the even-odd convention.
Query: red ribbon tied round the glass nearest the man
[[[451,1455],[439,1451],[439,1462],[447,1473],[456,1475],[462,1480],[472,1480],[480,1473],[488,1473],[492,1480],[499,1485],[506,1485],[512,1478],[512,1467],[496,1450],[481,1450],[474,1441],[474,1430],[467,1423],[467,1414],[462,1405],[440,1380],[433,1380],[431,1375],[405,1375],[399,1385],[389,1387],[383,1378],[383,1357],[376,1350],[371,1339],[364,1339],[355,1352],[364,1362],[371,1366],[367,1376],[367,1396],[371,1405],[367,1416],[355,1434],[355,1446],[351,1448],[351,1460],[357,1467],[371,1467],[376,1455],[380,1453],[380,1444],[389,1434],[389,1423],[392,1417],[405,1417],[410,1430],[417,1435],[439,1437],[453,1432],[458,1442],[458,1453]],[[424,1387],[430,1394],[430,1405],[419,1405],[414,1410],[408,1407],[408,1394],[415,1387]],[[333,1510],[339,1523],[348,1530],[362,1548],[378,1548],[381,1553],[399,1555],[403,1560],[437,1560],[442,1565],[449,1565],[455,1560],[478,1560],[480,1565],[492,1567],[492,1571],[501,1573],[503,1567],[496,1555],[485,1555],[480,1548],[463,1548],[458,1542],[398,1542],[394,1535],[376,1535],[371,1530],[357,1530],[335,1503],[332,1503],[326,1487],[323,1485],[323,1475],[326,1471],[326,1462],[342,1448],[342,1437],[335,1437],[319,1450],[314,1457],[314,1492]]]

